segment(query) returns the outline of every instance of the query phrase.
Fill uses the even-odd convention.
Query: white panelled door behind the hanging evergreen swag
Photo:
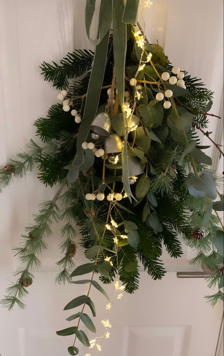
[[[219,106],[223,91],[222,6],[222,0],[154,0],[144,15],[150,41],[158,38],[174,64],[187,68],[216,91],[213,111],[218,115],[222,115]],[[57,62],[73,48],[91,48],[85,34],[84,11],[84,0],[0,0],[1,166],[34,136],[33,122],[44,117],[56,102],[56,92],[39,75],[39,65],[43,61]],[[220,122],[215,121],[215,125]],[[215,130],[213,138],[222,143],[220,132]],[[212,154],[217,166],[216,152]],[[0,297],[7,280],[14,278],[12,274],[20,268],[11,247],[18,245],[24,226],[32,223],[39,202],[52,199],[56,191],[45,188],[36,174],[27,174],[0,195]],[[65,304],[86,290],[85,286],[54,284],[59,228],[55,226],[48,241],[42,267],[34,271],[35,280],[25,301],[27,309],[9,314],[0,308],[1,356],[62,356],[68,354],[67,347],[73,343],[72,336],[59,337],[55,331],[68,327],[65,318],[70,314],[63,312]],[[162,281],[152,281],[142,270],[139,290],[115,300],[110,315],[111,335],[102,342],[102,355],[215,355],[222,305],[212,309],[205,303],[203,297],[211,291],[203,279],[176,278],[177,271],[197,270],[187,263],[192,251],[185,246],[183,249],[183,257],[177,260],[164,252],[168,272]],[[81,248],[76,257],[79,264],[84,263]],[[112,286],[105,289],[112,294]],[[91,298],[97,310],[94,323],[101,335],[106,299],[95,290]],[[80,356],[86,354],[82,345],[77,346]]]

